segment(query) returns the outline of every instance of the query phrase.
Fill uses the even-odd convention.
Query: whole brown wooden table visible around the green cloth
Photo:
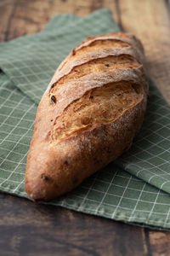
[[[1,0],[0,40],[38,32],[55,13],[110,8],[144,44],[148,72],[170,102],[170,16],[164,0]],[[170,233],[0,194],[0,256],[170,255]]]

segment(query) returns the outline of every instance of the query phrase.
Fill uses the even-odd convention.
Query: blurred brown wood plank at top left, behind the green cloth
[[[0,41],[40,31],[55,14],[73,13],[79,16],[102,7],[114,11],[113,0],[3,0],[0,3]]]

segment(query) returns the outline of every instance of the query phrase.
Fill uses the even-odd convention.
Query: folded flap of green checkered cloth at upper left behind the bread
[[[37,38],[36,37],[31,37],[28,36],[28,38],[31,38],[30,44],[22,44],[22,47],[19,47],[18,45],[15,45],[16,39],[14,40],[14,44],[12,45],[7,45],[7,49],[5,48],[5,45],[2,45],[2,52],[0,54],[1,61],[0,65],[3,68],[3,71],[9,75],[10,78],[13,79],[14,83],[16,86],[20,88],[25,94],[30,96],[35,102],[39,102],[42,96],[43,91],[46,89],[47,84],[49,82],[48,78],[51,78],[54,70],[56,69],[57,66],[59,66],[60,61],[62,61],[66,55],[70,52],[70,50],[75,47],[75,44],[79,44],[82,42],[84,38],[86,38],[89,35],[92,34],[101,34],[102,32],[112,32],[113,30],[118,31],[118,27],[116,24],[114,25],[111,14],[107,10],[102,10],[102,13],[105,15],[100,16],[99,14],[96,13],[94,17],[96,16],[96,20],[93,18],[93,23],[94,26],[92,25],[92,18],[91,16],[88,16],[88,18],[85,18],[85,20],[78,19],[75,21],[74,25],[79,25],[79,26],[74,26],[74,29],[70,31],[70,26],[67,24],[67,38],[61,37],[60,28],[59,32],[57,32],[57,27],[56,27],[56,32],[52,35],[51,37],[54,38],[51,41],[48,41],[48,44],[46,43],[47,36],[41,32],[39,33],[39,41],[37,44]],[[108,15],[110,18],[108,19]],[[102,17],[102,18],[101,18]],[[103,22],[101,22],[101,20]],[[95,26],[96,25],[96,26]],[[81,27],[82,26],[82,27]],[[87,29],[88,28],[88,29]],[[47,30],[46,30],[47,32]],[[71,35],[70,35],[71,32]],[[62,35],[65,35],[64,32],[62,32]],[[44,42],[45,38],[45,42]],[[25,38],[20,38],[18,39],[20,41],[26,40]],[[29,50],[28,50],[28,45]],[[14,47],[15,46],[15,47]],[[1,49],[1,45],[0,45]],[[10,51],[10,55],[7,57],[6,50]],[[12,50],[11,50],[12,49]],[[54,55],[54,52],[56,52],[57,49],[57,55]],[[47,54],[48,52],[48,54]],[[20,66],[20,60],[22,61],[22,65]],[[43,61],[42,61],[43,60]],[[47,80],[44,81],[41,77],[37,79],[37,83],[41,83],[41,89],[37,88],[37,86],[32,83],[32,77],[35,76],[34,69],[36,69],[35,63],[38,63],[38,66],[40,63],[42,66],[42,73],[45,73],[47,75]],[[48,63],[48,67],[46,66],[46,63]],[[20,66],[17,70],[17,67]],[[22,68],[22,66],[24,66]],[[28,70],[26,67],[29,67]],[[31,70],[30,70],[31,67]],[[23,72],[25,70],[25,72]],[[20,74],[19,77],[16,74]],[[31,75],[31,79],[30,79]],[[30,81],[31,80],[31,81]],[[31,90],[30,90],[31,88]]]

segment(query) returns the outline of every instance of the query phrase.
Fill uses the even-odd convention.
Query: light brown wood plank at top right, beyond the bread
[[[144,44],[147,70],[170,103],[170,8],[166,0],[119,0],[121,25]]]

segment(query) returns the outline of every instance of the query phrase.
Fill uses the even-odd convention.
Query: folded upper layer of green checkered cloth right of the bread
[[[152,102],[153,96],[155,97],[154,102]],[[122,162],[116,160],[116,164],[125,168],[127,172],[157,186],[158,189],[163,189],[170,193],[170,129],[168,127],[170,123],[170,108],[167,102],[162,101],[163,97],[160,92],[154,84],[150,83],[150,101],[139,137],[137,136],[134,139],[132,149],[122,155]],[[156,108],[152,108],[155,103]],[[164,108],[164,113],[157,114],[156,111],[160,108]],[[157,116],[156,119],[154,121],[150,120],[150,115],[154,116],[155,114]],[[164,124],[161,127],[159,127],[160,119],[164,120]],[[154,128],[154,125],[158,125],[159,128]],[[152,129],[150,129],[150,126],[153,126]],[[160,131],[165,131],[165,135],[160,134]],[[153,135],[156,135],[159,139],[150,139]],[[167,148],[160,146],[160,143],[167,143]],[[166,158],[162,157],[163,154],[166,154]],[[163,169],[163,167],[165,168]]]

